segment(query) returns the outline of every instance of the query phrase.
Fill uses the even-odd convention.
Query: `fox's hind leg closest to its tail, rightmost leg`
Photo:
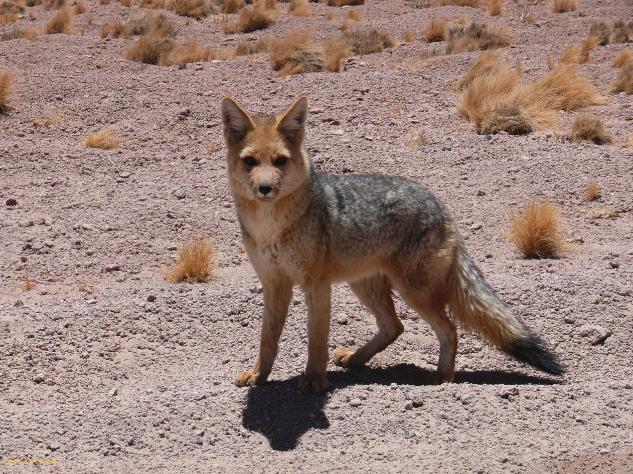
[[[439,341],[437,370],[429,375],[429,384],[439,385],[453,382],[455,378],[455,355],[457,354],[457,328],[446,315],[445,302],[438,291],[429,296],[425,291],[399,291],[404,302],[416,310],[429,323]]]

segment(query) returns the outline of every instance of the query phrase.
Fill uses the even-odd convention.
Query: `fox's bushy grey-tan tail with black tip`
[[[548,374],[565,372],[541,337],[497,298],[463,243],[457,250],[449,279],[449,307],[464,329],[476,332],[515,359]]]

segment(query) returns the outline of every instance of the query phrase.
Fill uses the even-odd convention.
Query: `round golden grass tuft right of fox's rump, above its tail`
[[[527,258],[556,257],[570,250],[565,241],[560,209],[549,201],[528,202],[522,212],[508,214],[509,228],[503,233]]]

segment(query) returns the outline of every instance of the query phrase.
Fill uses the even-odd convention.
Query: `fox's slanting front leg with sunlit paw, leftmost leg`
[[[262,281],[264,314],[261,321],[260,356],[249,372],[240,372],[235,385],[261,385],[266,383],[279,348],[279,337],[284,329],[288,306],[292,299],[292,283],[286,279]]]

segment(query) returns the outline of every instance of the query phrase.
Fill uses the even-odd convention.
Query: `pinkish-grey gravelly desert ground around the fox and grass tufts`
[[[89,6],[75,34],[0,43],[0,69],[16,78],[13,109],[0,117],[1,472],[29,469],[11,466],[15,458],[57,459],[41,468],[64,473],[633,470],[633,156],[624,148],[633,108],[630,96],[606,94],[617,75],[611,60],[630,46],[596,47],[599,61],[578,66],[608,97],[591,112],[606,119],[617,145],[598,146],[553,140],[548,130],[478,135],[456,114],[453,87],[478,52],[423,61],[433,45],[418,40],[353,58],[341,73],[280,78],[266,53],[179,70],[123,59],[134,39],[100,38],[101,25],[134,15],[135,5]],[[359,27],[385,27],[398,40],[434,17],[507,26],[513,44],[501,58],[520,59],[532,80],[593,21],[633,13],[627,0],[579,6],[584,16],[534,6],[537,23],[518,22],[512,3],[494,18],[402,0],[357,8]],[[248,35],[225,35],[219,18],[185,25],[167,15],[180,37],[218,49],[296,27],[322,41],[344,21],[345,9],[329,21],[323,4],[310,4],[310,18],[280,7],[272,27]],[[0,30],[42,25],[52,14],[29,10],[33,20]],[[565,377],[539,374],[460,332],[455,382],[427,386],[436,337],[398,301],[403,336],[361,370],[330,363],[330,391],[307,396],[297,388],[307,339],[296,291],[270,384],[232,385],[256,356],[263,301],[241,253],[219,103],[232,95],[250,111],[273,112],[300,94],[313,109],[306,145],[316,166],[398,174],[436,193],[501,298],[568,365]],[[58,112],[62,123],[32,126]],[[561,127],[571,119],[561,115]],[[122,148],[79,145],[104,126]],[[409,146],[422,128],[429,143]],[[583,196],[591,179],[603,188],[599,202]],[[508,210],[532,197],[560,204],[576,252],[526,260],[502,236]],[[10,198],[17,204],[5,207]],[[588,219],[598,206],[619,215]],[[219,279],[166,283],[161,267],[197,233],[216,238]],[[21,289],[25,272],[36,284],[30,291]],[[336,286],[332,301],[330,347],[372,336],[373,317],[349,288]],[[611,336],[592,345],[580,335],[586,324]]]

